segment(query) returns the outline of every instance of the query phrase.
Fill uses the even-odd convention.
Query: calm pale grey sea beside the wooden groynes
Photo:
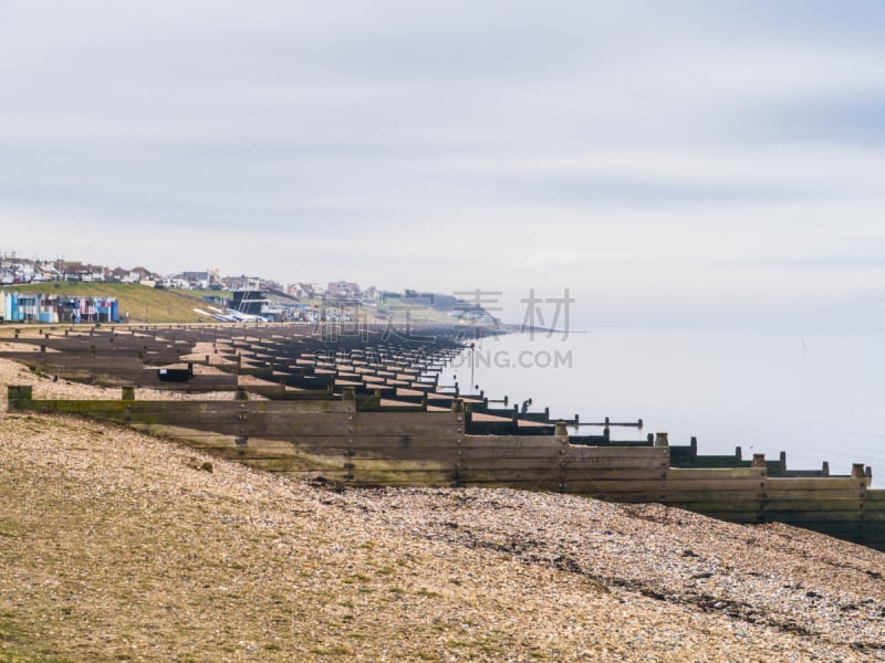
[[[442,377],[471,392],[470,352]],[[787,452],[788,467],[847,474],[873,467],[885,485],[885,349],[870,334],[604,329],[513,334],[477,345],[473,391],[582,421],[636,421],[616,439],[666,431],[671,444],[697,436],[700,453],[745,459]],[[582,428],[582,431],[598,429]]]

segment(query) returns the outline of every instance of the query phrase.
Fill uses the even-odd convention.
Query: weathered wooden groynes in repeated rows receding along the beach
[[[0,357],[48,376],[119,387],[118,400],[35,400],[175,438],[270,472],[342,485],[489,486],[660,503],[735,523],[780,522],[885,549],[885,491],[868,469],[832,476],[787,459],[706,456],[666,434],[570,434],[576,420],[521,413],[439,375],[493,330],[300,325],[23,327]],[[136,399],[137,388],[230,392],[227,400]],[[604,423],[604,422],[603,422]],[[573,424],[575,428],[571,428]],[[641,421],[635,428],[641,428]],[[760,446],[760,441],[754,441]]]

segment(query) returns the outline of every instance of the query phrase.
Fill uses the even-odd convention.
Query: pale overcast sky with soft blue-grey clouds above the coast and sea
[[[885,322],[885,3],[0,1],[0,251]]]

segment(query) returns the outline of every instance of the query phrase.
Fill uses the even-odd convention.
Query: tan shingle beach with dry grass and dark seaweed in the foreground
[[[572,495],[342,491],[0,404],[0,661],[885,661],[885,556],[861,546]]]

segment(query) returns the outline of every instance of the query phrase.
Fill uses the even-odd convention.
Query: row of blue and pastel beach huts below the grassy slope
[[[115,323],[114,297],[28,294],[3,291],[2,320],[10,323]]]

